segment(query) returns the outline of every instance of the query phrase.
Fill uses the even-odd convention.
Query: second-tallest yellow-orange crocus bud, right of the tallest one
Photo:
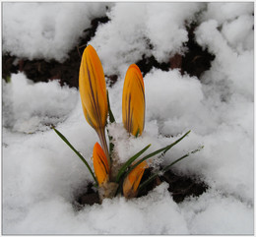
[[[132,64],[125,76],[122,98],[123,124],[128,133],[141,135],[145,123],[145,90],[140,69]]]

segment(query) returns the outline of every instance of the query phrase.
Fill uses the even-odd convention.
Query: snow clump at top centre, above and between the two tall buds
[[[191,22],[202,7],[204,4],[198,3],[116,4],[107,14],[111,21],[99,27],[91,41],[104,73],[125,74],[127,65],[143,55],[153,55],[163,62],[184,51],[182,43],[188,40],[184,22]]]

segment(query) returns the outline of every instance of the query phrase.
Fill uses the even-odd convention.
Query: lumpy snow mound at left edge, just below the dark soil
[[[32,133],[45,129],[45,124],[65,120],[78,100],[76,89],[60,88],[57,81],[33,85],[24,75],[17,74],[12,82],[3,85],[4,106],[12,111],[5,114],[4,123],[17,132]]]

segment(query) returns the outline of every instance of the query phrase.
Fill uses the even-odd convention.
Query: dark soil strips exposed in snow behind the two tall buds
[[[91,28],[84,30],[84,36],[79,39],[79,44],[69,52],[68,59],[60,63],[55,60],[45,61],[42,59],[28,60],[16,58],[9,54],[2,57],[2,77],[8,81],[11,73],[24,72],[33,82],[48,82],[58,80],[60,85],[78,88],[79,68],[81,55],[87,43],[95,36],[96,28],[99,24],[107,23],[107,17],[96,18],[91,22]],[[167,62],[160,63],[154,56],[142,56],[142,59],[135,62],[142,71],[143,76],[155,67],[162,71],[169,69],[179,69],[182,74],[196,76],[200,79],[201,75],[211,68],[211,62],[215,56],[206,49],[203,50],[195,41],[194,30],[196,24],[187,27],[189,40],[184,44],[187,52],[184,55],[175,54]],[[149,43],[149,47],[153,46]],[[117,75],[105,75],[107,84],[112,87],[117,82]]]

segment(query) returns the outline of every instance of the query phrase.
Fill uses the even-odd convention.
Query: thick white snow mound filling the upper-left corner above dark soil
[[[5,3],[4,52],[29,59],[63,61],[83,30],[91,27],[91,20],[104,15],[107,5],[110,4]]]

